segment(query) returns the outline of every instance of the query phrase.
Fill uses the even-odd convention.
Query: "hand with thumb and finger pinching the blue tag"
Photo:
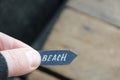
[[[40,54],[27,44],[0,32],[0,53],[8,65],[8,77],[20,76],[35,70]]]

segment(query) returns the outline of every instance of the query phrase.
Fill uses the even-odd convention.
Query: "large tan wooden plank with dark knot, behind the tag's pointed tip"
[[[68,66],[49,66],[74,80],[120,80],[120,31],[91,16],[65,9],[44,50],[70,49],[78,57]]]

